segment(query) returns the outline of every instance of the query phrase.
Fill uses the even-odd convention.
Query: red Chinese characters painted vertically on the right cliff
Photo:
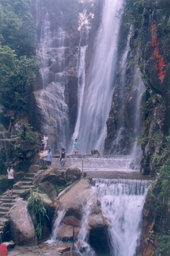
[[[164,76],[166,75],[166,70],[163,70],[164,67],[166,67],[166,64],[164,63],[163,57],[161,54],[159,54],[157,45],[160,44],[160,42],[157,39],[157,28],[156,24],[152,24],[152,41],[151,41],[151,46],[154,47],[154,51],[152,54],[152,60],[156,60],[156,65],[155,69],[158,71],[158,79],[160,80],[161,83],[163,83]]]

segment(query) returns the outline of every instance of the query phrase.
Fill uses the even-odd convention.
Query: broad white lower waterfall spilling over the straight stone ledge
[[[111,256],[134,256],[150,181],[94,179],[103,215],[110,223]]]

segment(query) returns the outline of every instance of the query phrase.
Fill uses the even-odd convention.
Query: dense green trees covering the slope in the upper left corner
[[[31,1],[0,0],[0,24],[1,103],[25,111],[29,88],[39,74]]]

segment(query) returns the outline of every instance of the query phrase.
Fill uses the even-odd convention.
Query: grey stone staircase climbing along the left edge
[[[9,223],[8,212],[14,205],[17,197],[26,197],[30,189],[35,189],[32,185],[32,179],[35,173],[25,173],[23,179],[14,184],[13,196],[7,196],[7,192],[0,195],[0,241],[3,242],[4,230]],[[19,185],[18,185],[19,184]]]

